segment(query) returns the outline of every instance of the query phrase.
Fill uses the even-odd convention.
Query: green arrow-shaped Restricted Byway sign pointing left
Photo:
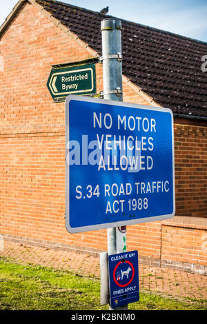
[[[95,94],[95,64],[52,67],[47,87],[55,101],[66,99],[68,94]]]

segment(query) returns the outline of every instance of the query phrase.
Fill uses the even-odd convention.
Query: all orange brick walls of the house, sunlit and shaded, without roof
[[[97,253],[106,230],[69,234],[65,212],[65,106],[46,83],[51,65],[92,57],[38,6],[26,3],[0,39],[0,233],[24,243]],[[102,65],[96,64],[97,92]],[[125,77],[124,101],[155,105]],[[176,216],[127,227],[139,261],[206,273],[206,125],[175,119]]]

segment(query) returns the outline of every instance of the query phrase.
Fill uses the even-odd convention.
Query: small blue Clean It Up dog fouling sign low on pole
[[[137,251],[108,256],[108,273],[112,308],[139,301]]]

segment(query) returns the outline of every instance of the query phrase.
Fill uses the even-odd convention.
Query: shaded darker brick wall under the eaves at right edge
[[[175,125],[177,215],[207,217],[206,126]]]

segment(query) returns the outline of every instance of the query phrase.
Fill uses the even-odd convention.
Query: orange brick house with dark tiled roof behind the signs
[[[34,245],[99,252],[106,230],[69,234],[65,105],[46,86],[52,65],[92,59],[103,90],[97,12],[19,1],[0,28],[0,233]],[[207,43],[122,21],[124,101],[170,108],[176,216],[127,228],[128,250],[152,265],[207,273]],[[203,69],[205,71],[205,69]]]

